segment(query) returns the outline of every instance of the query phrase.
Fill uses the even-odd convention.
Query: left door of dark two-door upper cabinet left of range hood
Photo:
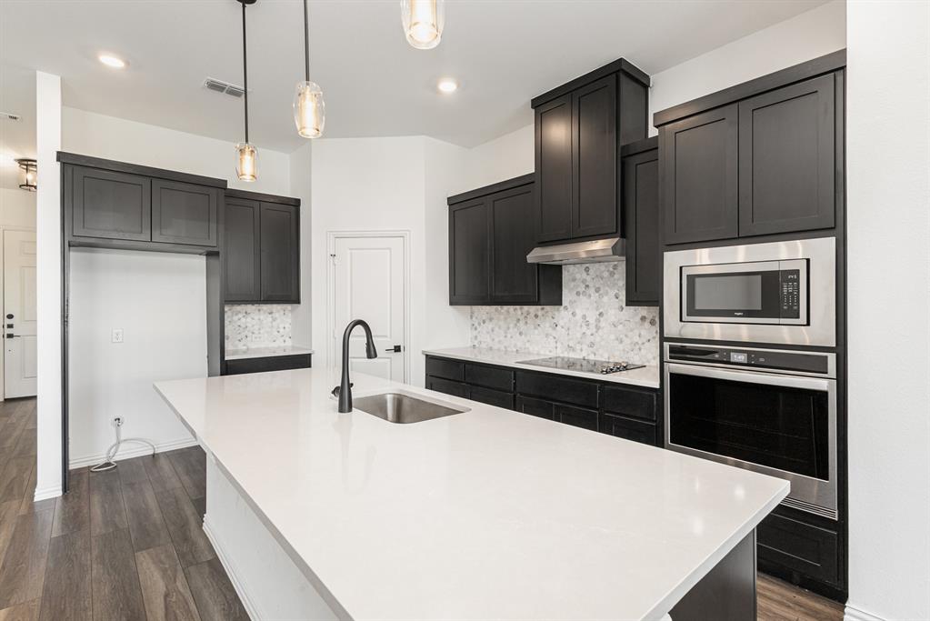
[[[449,304],[489,299],[487,210],[485,198],[449,207]]]

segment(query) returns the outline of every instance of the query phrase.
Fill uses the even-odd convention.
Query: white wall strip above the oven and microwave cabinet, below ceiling
[[[651,128],[653,112],[816,59],[845,45],[845,2],[833,0],[655,73],[649,92],[650,135],[657,133]]]

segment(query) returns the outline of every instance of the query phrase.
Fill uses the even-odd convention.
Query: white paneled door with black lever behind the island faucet
[[[335,368],[342,364],[346,325],[364,319],[371,326],[378,358],[365,357],[365,330],[358,326],[349,345],[350,370],[406,381],[404,241],[401,236],[336,238],[332,257]]]

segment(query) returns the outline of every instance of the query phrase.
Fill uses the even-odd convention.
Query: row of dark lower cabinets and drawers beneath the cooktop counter
[[[658,445],[658,390],[493,364],[426,357],[426,388]]]

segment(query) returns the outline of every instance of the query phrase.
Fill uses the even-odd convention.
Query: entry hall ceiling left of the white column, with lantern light
[[[0,188],[18,190],[22,171],[14,160],[20,157],[35,158],[33,70],[0,61],[0,112],[20,115],[19,121],[0,118]]]

